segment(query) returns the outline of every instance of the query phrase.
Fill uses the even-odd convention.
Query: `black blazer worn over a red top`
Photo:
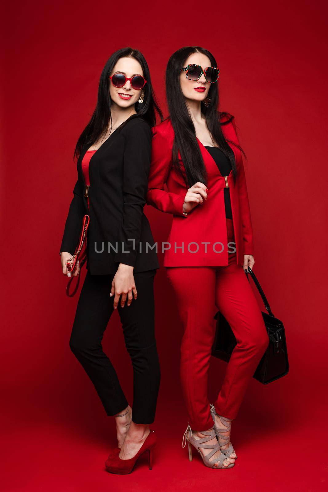
[[[149,247],[154,245],[154,240],[143,210],[148,189],[151,135],[150,126],[143,118],[130,118],[92,155],[89,211],[81,165],[89,145],[83,147],[78,158],[78,179],[60,251],[75,252],[83,216],[88,214],[87,269],[91,275],[115,274],[119,263],[133,266],[134,272],[159,268],[155,248]]]

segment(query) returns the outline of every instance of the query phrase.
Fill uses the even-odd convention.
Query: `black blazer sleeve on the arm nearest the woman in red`
[[[118,252],[114,257],[116,262],[125,265],[134,266],[139,250],[150,156],[150,126],[137,120],[127,127],[124,137],[123,218],[118,233]]]

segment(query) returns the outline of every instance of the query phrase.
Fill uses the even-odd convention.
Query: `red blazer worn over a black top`
[[[234,120],[222,125],[222,131],[227,139],[239,143]],[[244,166],[239,149],[234,144],[229,143],[235,153],[238,169],[238,177],[236,184],[234,184],[232,171],[226,180],[220,174],[212,156],[197,139],[208,174],[208,199],[207,201],[204,200],[203,205],[199,204],[187,215],[183,215],[182,207],[188,188],[179,173],[172,168],[174,130],[170,119],[153,127],[152,133],[147,203],[162,212],[173,214],[168,238],[168,243],[171,246],[164,244],[164,248],[170,247],[165,249],[164,266],[228,265],[223,193],[223,188],[227,184],[230,186],[237,264],[242,264],[244,254],[253,254],[253,230]],[[180,153],[178,153],[178,157],[183,169]],[[168,191],[164,188],[164,184],[167,185]],[[209,244],[205,245],[204,243]],[[218,243],[222,243],[222,245]],[[232,251],[232,247],[234,245],[229,246],[230,251]]]

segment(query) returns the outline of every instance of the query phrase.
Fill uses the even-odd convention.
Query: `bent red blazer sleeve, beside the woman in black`
[[[147,203],[168,214],[183,214],[184,196],[164,189],[172,167],[172,152],[165,137],[156,129],[151,140],[151,162],[148,180]]]

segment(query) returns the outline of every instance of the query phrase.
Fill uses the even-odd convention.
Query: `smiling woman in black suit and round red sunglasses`
[[[107,415],[115,416],[116,455],[129,466],[141,448],[154,445],[149,424],[160,381],[153,299],[159,264],[143,212],[155,111],[162,120],[145,58],[131,48],[118,50],[102,71],[96,108],[76,145],[78,178],[60,246],[62,272],[71,276],[66,261],[75,252],[88,214],[87,275],[70,347]],[[73,275],[79,275],[79,265]],[[133,366],[132,409],[101,345],[116,308]]]

